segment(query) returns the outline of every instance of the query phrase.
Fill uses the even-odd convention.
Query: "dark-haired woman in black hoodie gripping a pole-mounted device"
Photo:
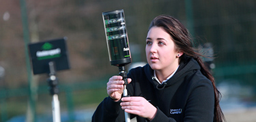
[[[148,64],[128,73],[130,97],[122,98],[122,77],[111,77],[106,88],[109,97],[100,103],[92,121],[124,121],[124,111],[138,122],[224,121],[221,94],[181,22],[165,15],[154,18],[145,52]]]

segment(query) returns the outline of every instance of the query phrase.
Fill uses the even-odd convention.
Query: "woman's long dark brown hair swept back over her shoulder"
[[[177,19],[173,18],[172,16],[167,16],[167,15],[160,15],[156,16],[154,20],[152,20],[150,28],[153,26],[158,26],[162,27],[165,29],[169,35],[171,35],[177,51],[183,52],[184,54],[180,57],[181,60],[185,60],[185,56],[190,56],[197,60],[201,67],[201,73],[205,75],[210,81],[212,81],[212,85],[214,87],[214,97],[215,97],[215,102],[214,102],[214,121],[225,121],[225,117],[223,115],[223,112],[221,110],[221,106],[219,104],[221,100],[221,93],[218,91],[218,89],[215,86],[214,83],[214,77],[210,73],[210,70],[205,66],[203,61],[201,60],[202,54],[199,54],[198,52],[195,51],[193,48],[193,40],[190,37],[190,33],[186,29],[186,27]]]

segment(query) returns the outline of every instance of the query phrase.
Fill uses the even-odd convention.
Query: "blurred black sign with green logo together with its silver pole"
[[[59,88],[56,77],[57,70],[69,69],[68,52],[66,49],[66,38],[53,39],[39,43],[29,44],[33,74],[48,73],[48,85],[51,96],[53,96],[53,122],[61,122],[59,106]]]

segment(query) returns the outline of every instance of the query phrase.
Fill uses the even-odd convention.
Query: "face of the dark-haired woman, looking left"
[[[154,70],[173,72],[183,53],[176,51],[171,36],[162,27],[153,26],[147,33],[145,52],[147,63]]]

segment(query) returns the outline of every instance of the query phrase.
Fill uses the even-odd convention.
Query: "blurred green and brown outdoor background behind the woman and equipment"
[[[27,45],[68,37],[70,69],[57,72],[61,121],[91,121],[107,96],[111,66],[102,12],[124,9],[132,54],[146,62],[151,20],[168,14],[193,35],[223,94],[227,121],[256,121],[256,1],[0,0],[0,121],[52,121],[47,74],[33,75]]]

